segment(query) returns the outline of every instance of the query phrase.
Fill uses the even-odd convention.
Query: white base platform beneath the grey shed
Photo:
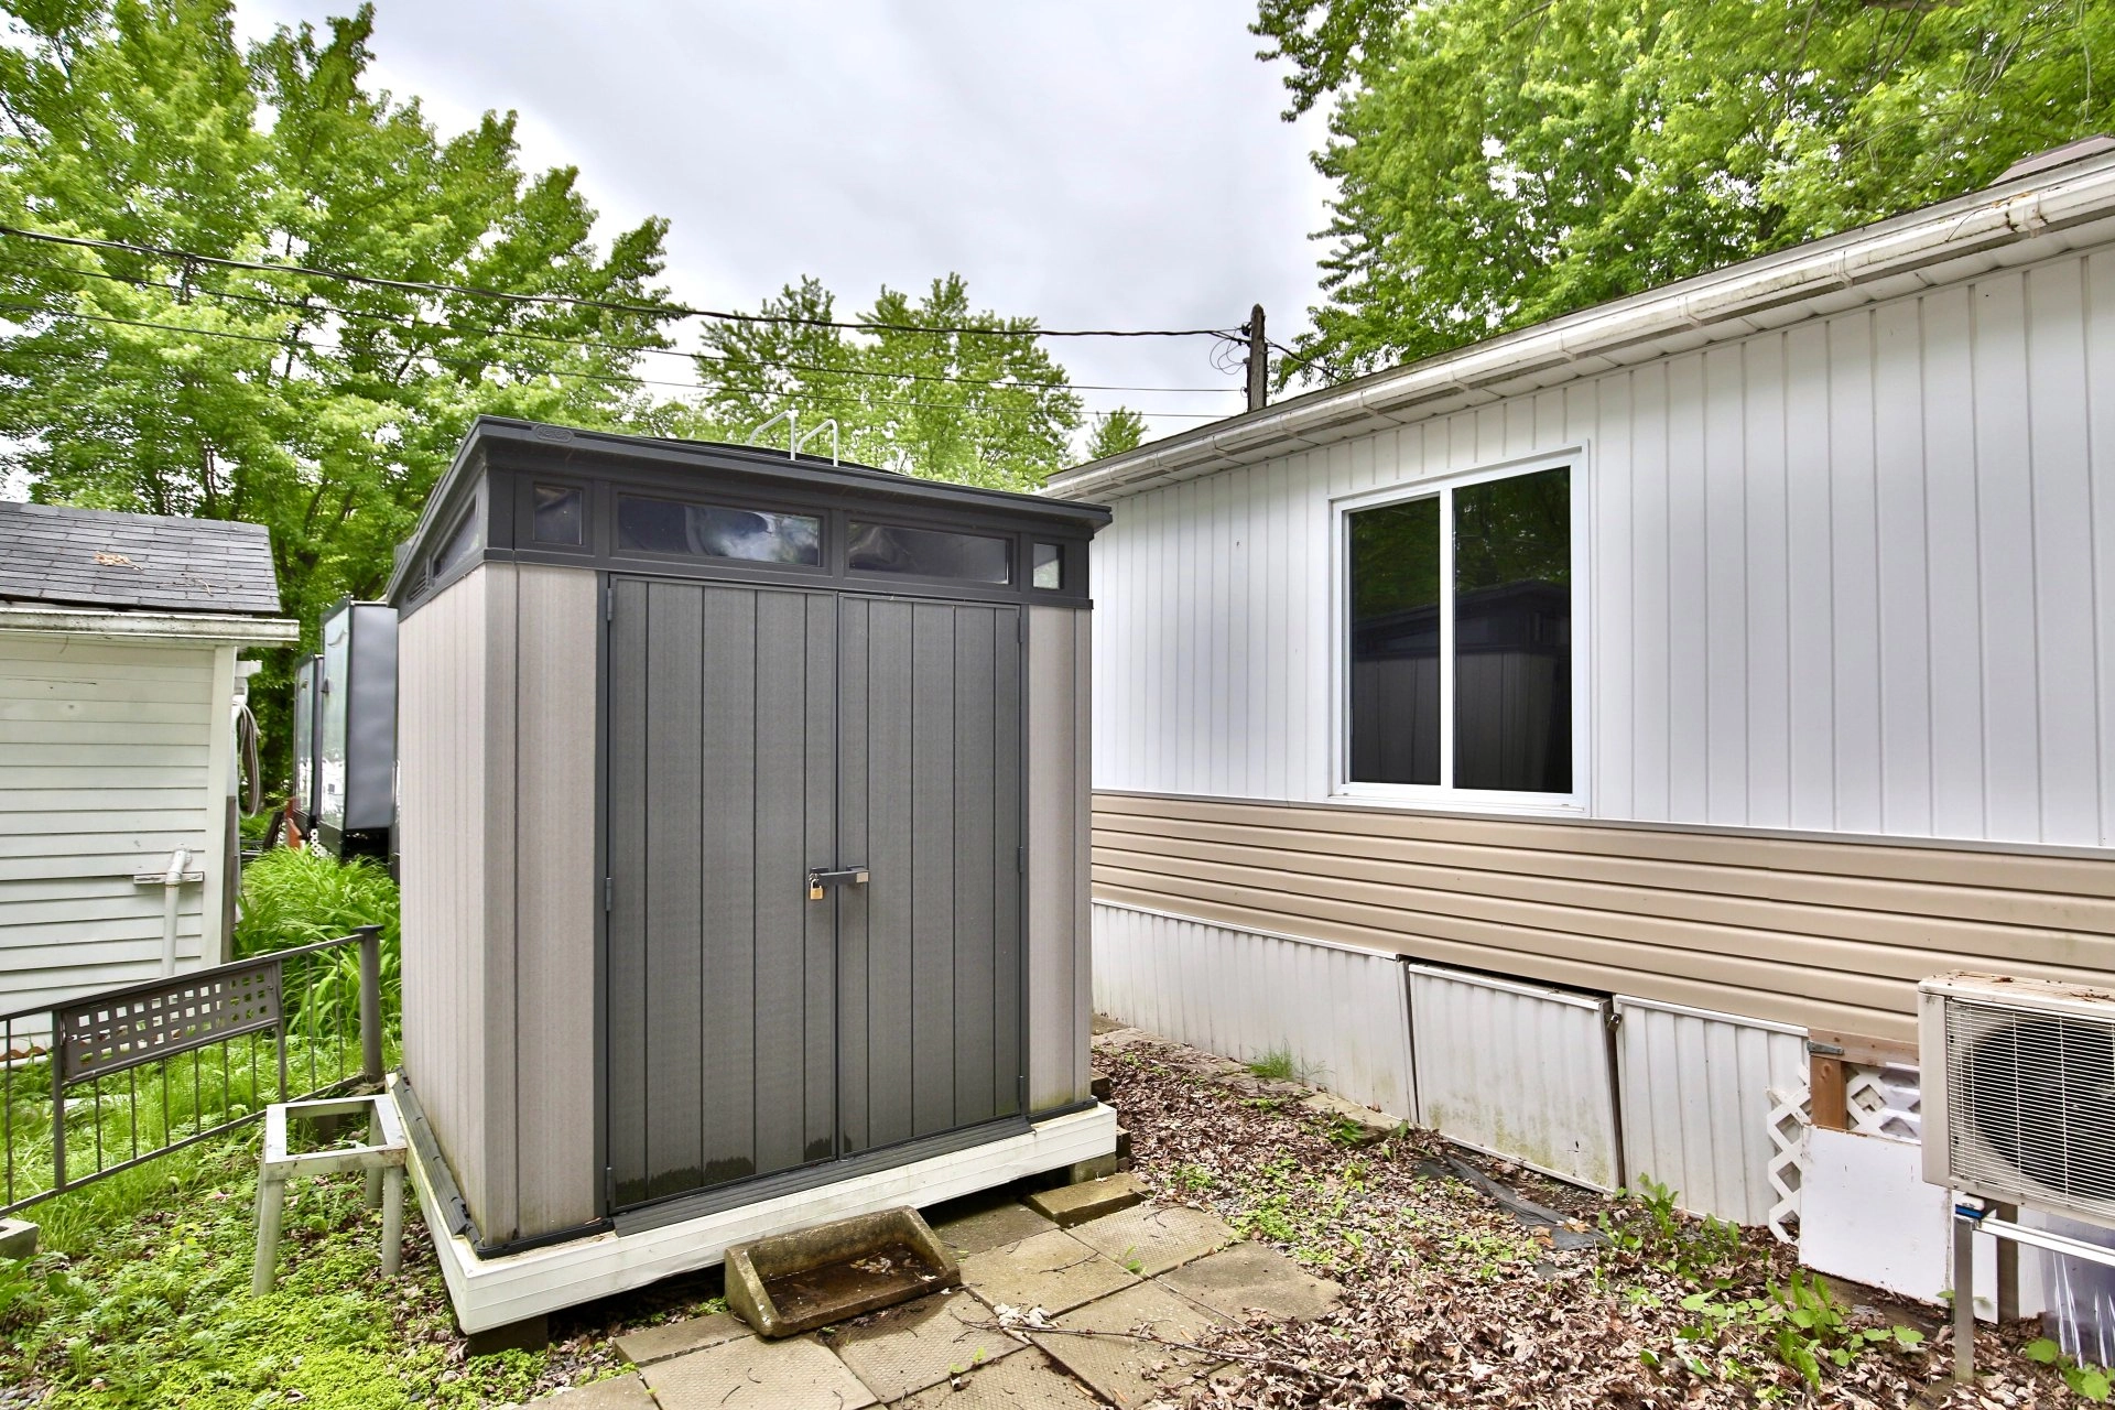
[[[594,1298],[645,1287],[664,1277],[711,1268],[736,1243],[897,1205],[937,1205],[945,1199],[1062,1169],[1074,1161],[1106,1156],[1115,1148],[1115,1108],[1091,1106],[1051,1116],[1030,1125],[1028,1131],[983,1146],[761,1199],[679,1224],[635,1228],[632,1232],[609,1230],[497,1258],[478,1258],[470,1239],[450,1235],[431,1218],[427,1218],[427,1232],[448,1283],[457,1323],[463,1332],[489,1332]],[[412,1144],[410,1177],[423,1211],[440,1209],[436,1171],[427,1169],[431,1158],[434,1154],[421,1150],[419,1142]]]

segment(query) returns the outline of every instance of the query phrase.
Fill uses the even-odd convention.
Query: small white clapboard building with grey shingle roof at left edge
[[[237,655],[277,613],[258,524],[0,503],[0,1015],[226,958]]]

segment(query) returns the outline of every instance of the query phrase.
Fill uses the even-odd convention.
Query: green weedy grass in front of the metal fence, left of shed
[[[42,1207],[47,1247],[0,1264],[0,1385],[70,1406],[476,1406],[527,1399],[552,1353],[463,1361],[431,1249],[376,1275],[360,1175],[296,1182],[279,1287],[250,1296],[256,1131]]]

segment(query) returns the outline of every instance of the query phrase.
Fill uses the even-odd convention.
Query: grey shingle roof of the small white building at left
[[[0,600],[277,613],[262,524],[0,501]]]

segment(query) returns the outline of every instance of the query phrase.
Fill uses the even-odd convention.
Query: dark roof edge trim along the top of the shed
[[[478,484],[495,469],[618,480],[651,478],[662,486],[687,476],[719,484],[734,478],[749,495],[785,493],[802,499],[871,501],[899,514],[981,514],[1024,526],[1047,526],[1051,533],[1081,539],[1091,537],[1110,520],[1108,509],[1093,503],[924,480],[850,461],[831,463],[816,454],[791,457],[768,446],[624,435],[478,416],[463,435],[455,461],[427,497],[410,539],[400,545],[396,571],[383,592],[385,600],[406,605],[429,590],[431,583],[419,581],[423,567],[463,520],[465,507],[478,495]]]

